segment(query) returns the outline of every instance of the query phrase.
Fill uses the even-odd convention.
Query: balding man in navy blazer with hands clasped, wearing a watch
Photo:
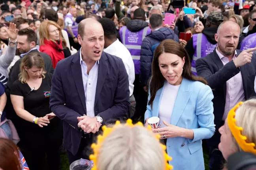
[[[79,23],[81,49],[58,62],[50,98],[51,111],[63,120],[64,148],[70,163],[88,159],[93,134],[102,124],[127,117],[129,82],[122,59],[103,52],[102,25]]]

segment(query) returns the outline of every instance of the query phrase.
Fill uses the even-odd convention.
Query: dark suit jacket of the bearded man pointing
[[[236,50],[237,55],[241,53]],[[245,93],[245,100],[256,96],[254,92],[254,78],[256,75],[256,56],[253,55],[251,63],[247,63],[242,67],[236,68],[232,61],[223,66],[216,50],[204,58],[196,61],[196,72],[198,76],[205,78],[208,85],[213,90],[213,107],[214,107],[214,123],[216,125],[215,133],[218,133],[218,128],[221,126],[222,116],[224,114],[226,102],[226,81],[235,76],[241,71],[243,79],[243,88]],[[212,141],[218,145],[218,141]]]

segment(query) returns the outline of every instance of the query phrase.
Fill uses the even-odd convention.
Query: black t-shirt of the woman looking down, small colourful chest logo
[[[51,96],[51,74],[46,74],[37,90],[32,90],[27,83],[14,81],[10,94],[23,96],[24,109],[36,117],[43,117],[51,113],[49,99]],[[39,127],[37,124],[19,118],[17,131],[21,139],[30,137],[36,139],[60,139],[62,138],[62,122],[59,118],[53,118],[48,126]]]

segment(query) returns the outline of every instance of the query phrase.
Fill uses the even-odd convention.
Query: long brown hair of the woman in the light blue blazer
[[[190,59],[188,57],[188,53],[186,52],[185,48],[183,48],[183,46],[181,46],[178,42],[173,41],[171,39],[164,40],[156,48],[156,51],[154,53],[154,58],[152,61],[152,78],[150,81],[151,97],[148,103],[149,105],[151,105],[151,107],[152,107],[154,98],[156,96],[156,91],[158,91],[161,87],[163,87],[164,81],[165,81],[164,76],[160,72],[160,68],[158,64],[158,57],[164,52],[178,55],[179,57],[181,57],[181,59],[185,57],[183,72],[181,74],[183,78],[186,78],[192,81],[201,81],[202,83],[207,84],[207,81],[205,79],[192,75]]]

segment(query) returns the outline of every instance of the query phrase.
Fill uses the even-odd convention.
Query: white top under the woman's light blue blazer
[[[163,120],[167,123],[171,122],[171,115],[174,103],[181,85],[171,85],[168,81],[164,82],[164,91],[159,107],[160,127],[165,127]]]

